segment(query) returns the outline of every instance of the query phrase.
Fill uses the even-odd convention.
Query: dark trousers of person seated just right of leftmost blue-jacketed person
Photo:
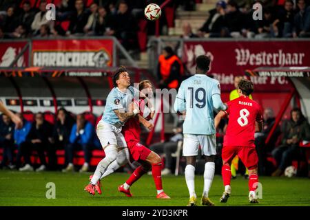
[[[23,155],[23,158],[25,159],[25,164],[31,164],[30,156],[32,151],[37,151],[39,155],[39,159],[41,162],[41,165],[47,165],[46,159],[45,159],[45,149],[48,146],[46,143],[35,143],[32,144],[32,142],[23,142],[21,144],[21,154]]]

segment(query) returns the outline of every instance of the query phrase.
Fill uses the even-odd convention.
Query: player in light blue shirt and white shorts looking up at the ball
[[[114,88],[107,96],[103,117],[96,128],[101,146],[105,151],[105,158],[97,165],[90,184],[85,186],[85,190],[92,195],[95,190],[101,194],[100,177],[112,162],[117,160],[118,164],[127,163],[129,152],[121,129],[128,119],[140,112],[138,108],[127,111],[132,100],[135,97],[139,98],[139,91],[130,86],[130,76],[125,67],[120,67],[116,71],[113,83]]]

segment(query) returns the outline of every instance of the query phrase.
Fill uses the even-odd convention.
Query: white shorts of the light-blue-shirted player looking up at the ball
[[[125,137],[121,133],[122,127],[116,127],[112,124],[100,121],[97,124],[96,133],[103,149],[107,145],[113,144],[118,148],[127,147]]]

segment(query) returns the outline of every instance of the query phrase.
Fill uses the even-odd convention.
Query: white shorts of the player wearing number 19
[[[202,155],[216,155],[216,135],[184,134],[183,156],[197,156],[199,146],[201,147]]]

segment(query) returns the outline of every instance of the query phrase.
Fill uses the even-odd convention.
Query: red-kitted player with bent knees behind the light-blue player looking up
[[[139,84],[140,91],[143,94],[152,94],[152,83],[149,80],[143,80]],[[137,104],[140,113],[136,117],[131,118],[125,122],[123,126],[122,133],[125,137],[128,149],[130,151],[131,159],[139,162],[141,166],[138,166],[134,173],[125,181],[124,184],[118,186],[118,191],[123,192],[127,197],[132,197],[130,192],[130,186],[134,184],[135,181],[140,179],[142,175],[147,173],[147,171],[152,168],[152,175],[154,178],[157,196],[158,199],[170,199],[169,196],[163,191],[163,184],[161,179],[161,157],[154,151],[149,150],[146,146],[140,143],[141,127],[140,123],[143,124],[147,129],[152,130],[154,124],[150,122],[154,116],[154,111],[151,111],[151,107],[148,107],[148,104],[145,103],[143,98],[140,98],[138,101],[134,101],[134,104]],[[107,170],[101,176],[106,177],[111,173],[114,173],[114,170],[118,169],[123,164],[118,164],[117,160],[108,166]]]

